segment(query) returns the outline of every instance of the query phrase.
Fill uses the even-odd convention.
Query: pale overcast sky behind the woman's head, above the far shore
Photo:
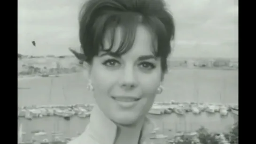
[[[236,0],[167,1],[177,28],[174,57],[238,58]],[[82,2],[18,0],[18,53],[70,55],[68,47],[79,47]]]

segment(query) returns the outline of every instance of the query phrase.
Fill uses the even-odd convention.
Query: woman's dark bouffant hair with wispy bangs
[[[161,58],[161,67],[165,72],[175,26],[163,0],[87,0],[79,14],[79,40],[85,61],[91,64],[99,51],[111,51],[117,27],[122,28],[122,40],[115,54],[128,52],[138,24],[147,26],[157,39],[154,54]],[[103,50],[107,30],[110,31],[112,45]]]

